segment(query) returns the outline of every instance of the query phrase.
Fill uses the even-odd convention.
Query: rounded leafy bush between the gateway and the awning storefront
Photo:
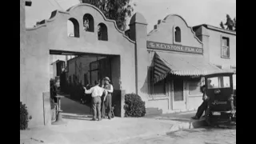
[[[124,109],[126,117],[143,117],[146,114],[145,102],[138,94],[125,95]]]

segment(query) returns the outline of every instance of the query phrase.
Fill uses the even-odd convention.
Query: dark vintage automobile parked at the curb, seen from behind
[[[232,72],[205,75],[208,108],[206,122],[209,125],[236,122],[236,90],[233,88]]]

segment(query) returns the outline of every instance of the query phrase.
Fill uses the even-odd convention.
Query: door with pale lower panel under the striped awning
[[[184,82],[182,79],[174,79],[173,81],[173,90],[174,90],[174,97],[173,97],[173,109],[174,110],[185,110],[186,109],[186,98],[184,94]]]

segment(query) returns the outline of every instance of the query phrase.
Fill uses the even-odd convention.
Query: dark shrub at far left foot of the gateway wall
[[[29,122],[29,115],[28,112],[26,110],[26,106],[25,104],[22,104],[22,102],[20,102],[20,119],[19,119],[19,130],[26,130],[27,126],[28,126],[28,122]]]

